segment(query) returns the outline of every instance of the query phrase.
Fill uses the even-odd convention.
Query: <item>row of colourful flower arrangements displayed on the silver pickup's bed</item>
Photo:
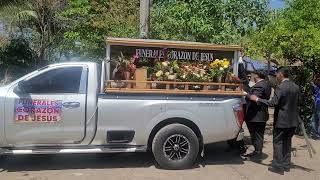
[[[238,81],[229,73],[230,61],[227,59],[216,59],[211,62],[160,61],[160,59],[149,61],[141,59],[137,54],[126,58],[121,52],[114,62],[116,74],[121,77],[118,79],[132,79],[137,66],[147,64],[148,77],[154,81],[221,82],[222,78],[229,82]],[[150,67],[151,64],[154,66]]]

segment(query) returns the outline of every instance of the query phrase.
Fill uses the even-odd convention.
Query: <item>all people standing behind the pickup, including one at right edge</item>
[[[289,79],[290,68],[280,67],[276,71],[277,87],[272,88],[265,70],[255,70],[247,78],[243,62],[240,61],[239,77],[247,93],[245,122],[248,127],[254,151],[244,156],[255,162],[262,161],[263,141],[266,122],[269,119],[268,107],[274,107],[273,122],[273,161],[269,171],[284,174],[290,171],[292,137],[299,126],[299,103],[301,102],[299,86]],[[250,82],[250,83],[249,83]],[[312,83],[315,94],[313,134],[320,138],[320,75]],[[243,143],[242,143],[243,144]]]

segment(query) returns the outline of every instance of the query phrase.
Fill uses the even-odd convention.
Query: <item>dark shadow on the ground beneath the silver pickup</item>
[[[205,147],[205,157],[199,158],[193,168],[221,164],[243,164],[243,159],[237,151],[228,150],[226,143],[215,143]],[[5,156],[0,160],[0,172],[151,166],[159,168],[152,153],[17,155]]]

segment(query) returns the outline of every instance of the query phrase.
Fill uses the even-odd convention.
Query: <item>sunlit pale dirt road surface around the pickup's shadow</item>
[[[304,140],[294,138],[293,169],[284,176],[268,172],[272,157],[272,137],[265,137],[265,159],[246,161],[225,143],[206,147],[205,157],[194,168],[181,171],[159,169],[148,153],[8,156],[0,160],[0,180],[320,180],[320,156],[313,159]],[[320,141],[312,141],[320,152]],[[252,148],[250,147],[249,151]]]

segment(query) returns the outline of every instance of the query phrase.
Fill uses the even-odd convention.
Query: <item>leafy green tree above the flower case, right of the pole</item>
[[[154,1],[151,34],[157,39],[240,44],[268,22],[268,1]]]

